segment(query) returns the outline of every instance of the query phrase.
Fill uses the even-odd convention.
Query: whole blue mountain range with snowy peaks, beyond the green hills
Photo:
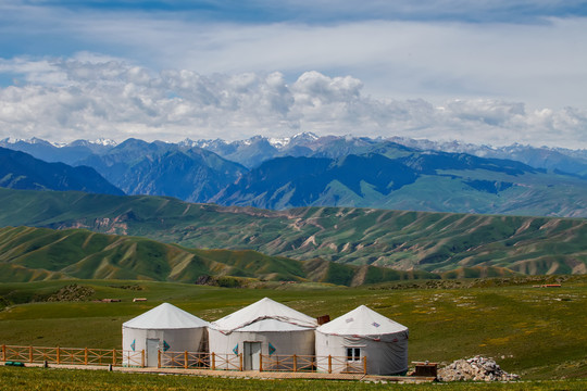
[[[521,146],[475,149],[425,140],[312,134],[234,142],[78,140],[55,147],[33,139],[2,140],[0,144],[51,162],[92,167],[127,194],[277,210],[360,206],[587,216],[587,156],[582,151]],[[453,151],[440,151],[441,146]],[[508,154],[519,161],[491,157]]]

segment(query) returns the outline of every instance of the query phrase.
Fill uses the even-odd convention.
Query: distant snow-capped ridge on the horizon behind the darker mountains
[[[202,148],[251,168],[276,156],[319,155],[340,157],[342,154],[369,152],[367,149],[376,148],[377,144],[385,142],[394,142],[422,151],[467,153],[478,157],[515,160],[535,168],[558,169],[570,174],[587,175],[587,150],[532,147],[517,143],[507,147],[490,147],[459,141],[432,141],[398,136],[369,138],[316,136],[312,133],[301,133],[283,138],[254,136],[237,141],[225,141],[223,139],[191,140],[186,138],[177,143],[164,143],[175,144],[180,149]],[[70,143],[51,143],[39,138],[28,140],[5,138],[0,140],[0,147],[30,153],[35,157],[47,162],[59,161],[67,164],[75,164],[91,153],[104,153],[116,146],[117,143],[115,141],[108,139],[93,141],[75,140]],[[332,147],[335,147],[334,152],[332,151]]]

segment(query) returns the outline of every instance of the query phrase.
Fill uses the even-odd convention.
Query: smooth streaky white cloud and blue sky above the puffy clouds
[[[133,3],[113,12],[83,1],[0,4],[0,45],[49,55],[62,46],[62,55],[103,52],[157,71],[279,71],[290,84],[315,70],[353,75],[364,94],[436,104],[491,98],[587,108],[583,0],[255,1],[235,4],[234,13],[209,3],[218,14],[166,3],[177,12],[141,12]],[[242,23],[239,7],[277,16]],[[230,17],[207,17],[223,12]]]

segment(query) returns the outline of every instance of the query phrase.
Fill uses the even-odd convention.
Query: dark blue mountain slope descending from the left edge
[[[78,190],[124,194],[93,168],[47,163],[32,155],[0,147],[0,187],[30,190]]]

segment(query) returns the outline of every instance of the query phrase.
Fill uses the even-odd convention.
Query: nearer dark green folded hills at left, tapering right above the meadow
[[[0,281],[140,279],[239,287],[262,281],[359,286],[436,277],[328,261],[295,261],[252,250],[192,250],[85,229],[0,228]]]

